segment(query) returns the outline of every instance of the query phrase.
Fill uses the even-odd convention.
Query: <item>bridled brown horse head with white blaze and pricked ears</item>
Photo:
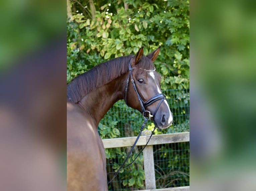
[[[153,64],[159,52],[160,47],[143,56],[141,47],[131,58],[124,97],[128,106],[153,119],[156,127],[163,129],[171,125],[172,113],[160,89],[161,75],[155,71]]]

